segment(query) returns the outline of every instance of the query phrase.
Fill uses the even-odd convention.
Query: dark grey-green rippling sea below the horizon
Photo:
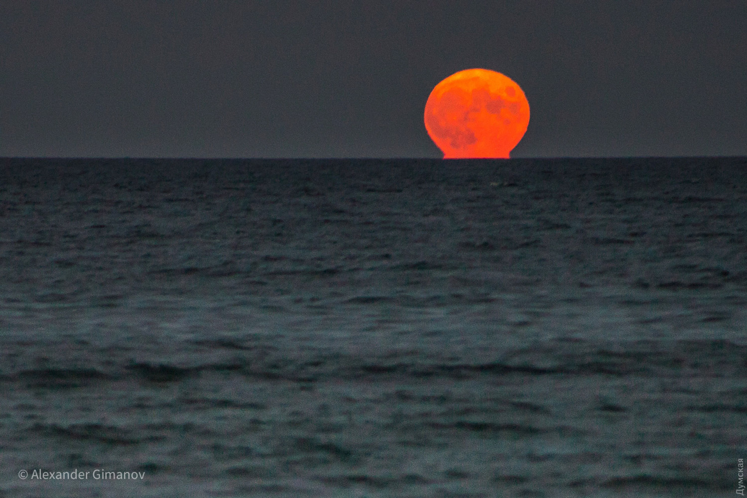
[[[0,159],[0,497],[717,497],[738,458],[745,158]]]

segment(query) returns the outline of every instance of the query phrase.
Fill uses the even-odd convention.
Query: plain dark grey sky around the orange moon
[[[745,0],[0,0],[0,156],[438,158],[473,67],[512,157],[747,155]]]

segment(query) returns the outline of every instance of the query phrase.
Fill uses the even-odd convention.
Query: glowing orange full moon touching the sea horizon
[[[527,125],[524,91],[489,69],[450,75],[433,88],[425,105],[425,128],[444,159],[508,159]]]

